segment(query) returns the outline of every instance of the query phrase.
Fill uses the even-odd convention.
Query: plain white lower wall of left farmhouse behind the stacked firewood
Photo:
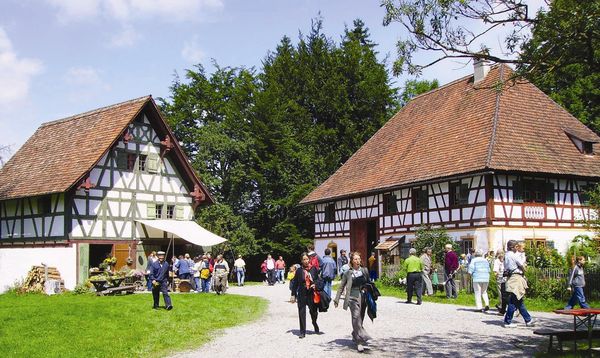
[[[65,281],[65,288],[76,284],[77,251],[73,247],[0,249],[0,293],[5,292],[16,280],[27,277],[31,266],[42,263],[56,267]]]

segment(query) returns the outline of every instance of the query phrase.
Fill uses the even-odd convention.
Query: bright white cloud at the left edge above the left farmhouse
[[[8,35],[0,27],[0,109],[25,100],[32,78],[42,70],[40,60],[17,57]]]

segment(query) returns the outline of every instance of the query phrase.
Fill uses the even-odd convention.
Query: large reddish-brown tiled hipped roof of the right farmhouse
[[[533,84],[506,82],[512,74],[496,65],[475,86],[467,76],[414,98],[301,203],[488,170],[600,177],[600,155],[580,153],[565,130],[600,138]]]

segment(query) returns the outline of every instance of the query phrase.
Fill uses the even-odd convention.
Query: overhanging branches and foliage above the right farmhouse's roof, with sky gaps
[[[600,2],[553,0],[545,9],[532,3],[383,0],[384,23],[400,23],[408,34],[398,42],[394,72],[418,74],[452,58],[512,63],[518,76],[600,131]],[[502,49],[480,43],[492,33],[503,37]],[[414,56],[419,51],[433,57],[419,61]]]

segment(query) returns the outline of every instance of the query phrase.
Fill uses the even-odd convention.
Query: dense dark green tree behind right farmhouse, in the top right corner
[[[553,1],[520,59],[530,81],[600,133],[600,1]]]

